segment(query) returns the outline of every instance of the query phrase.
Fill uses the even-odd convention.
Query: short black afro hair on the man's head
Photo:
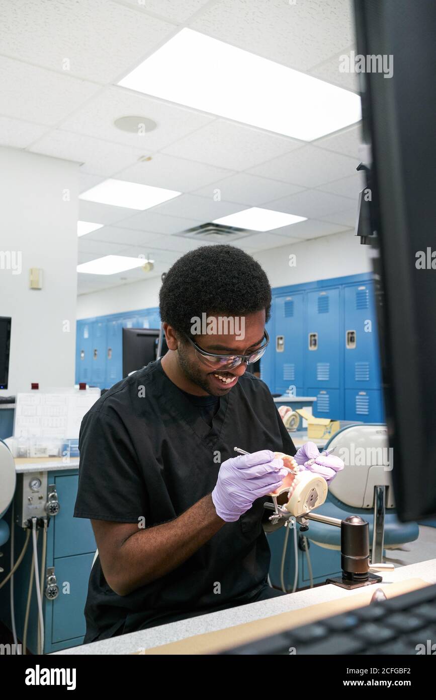
[[[159,293],[161,321],[190,335],[191,318],[202,313],[270,317],[268,277],[251,255],[234,246],[201,246],[170,267]]]

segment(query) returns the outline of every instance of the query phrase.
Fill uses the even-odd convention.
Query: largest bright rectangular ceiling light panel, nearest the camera
[[[354,92],[187,28],[118,85],[302,141],[361,119]]]

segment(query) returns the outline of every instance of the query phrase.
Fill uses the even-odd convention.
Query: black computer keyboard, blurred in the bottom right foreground
[[[418,647],[417,645],[423,645]],[[221,654],[423,654],[436,645],[436,584]],[[430,650],[430,651],[429,651]],[[436,646],[433,651],[436,650]]]

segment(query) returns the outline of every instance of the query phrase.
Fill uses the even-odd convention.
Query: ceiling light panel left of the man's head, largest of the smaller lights
[[[173,200],[180,192],[164,190],[161,187],[140,185],[136,182],[108,179],[90,190],[83,192],[80,200],[98,202],[99,204],[112,204],[113,207],[125,207],[126,209],[150,209],[157,204]]]

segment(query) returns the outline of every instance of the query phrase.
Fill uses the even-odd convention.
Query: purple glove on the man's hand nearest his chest
[[[256,498],[278,489],[287,474],[282,459],[275,458],[269,449],[226,459],[212,491],[217,514],[226,522],[238,520]]]

